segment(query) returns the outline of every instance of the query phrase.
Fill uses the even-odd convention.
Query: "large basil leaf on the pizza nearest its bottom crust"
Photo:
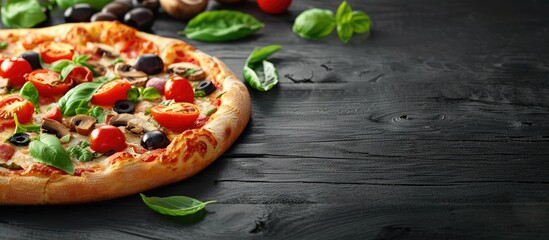
[[[49,134],[40,134],[38,139],[29,144],[29,152],[34,160],[74,174],[71,158],[61,142]]]

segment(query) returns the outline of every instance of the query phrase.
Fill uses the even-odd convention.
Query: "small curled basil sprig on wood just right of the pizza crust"
[[[267,58],[281,48],[280,45],[271,45],[252,51],[243,70],[244,79],[250,86],[259,91],[268,91],[278,83],[278,72]]]

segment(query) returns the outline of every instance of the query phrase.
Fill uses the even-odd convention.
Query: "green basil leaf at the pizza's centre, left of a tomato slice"
[[[59,99],[57,105],[64,116],[76,115],[77,108],[87,108],[93,94],[103,85],[99,82],[85,82],[78,84]]]

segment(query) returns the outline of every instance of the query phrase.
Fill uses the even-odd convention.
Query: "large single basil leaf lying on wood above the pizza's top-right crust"
[[[207,11],[191,19],[185,30],[187,38],[204,42],[226,42],[250,36],[264,26],[253,16],[233,11]]]

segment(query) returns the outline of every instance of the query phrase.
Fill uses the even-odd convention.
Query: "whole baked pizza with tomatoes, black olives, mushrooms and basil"
[[[250,118],[219,59],[117,22],[0,30],[0,203],[127,196],[193,176]]]

